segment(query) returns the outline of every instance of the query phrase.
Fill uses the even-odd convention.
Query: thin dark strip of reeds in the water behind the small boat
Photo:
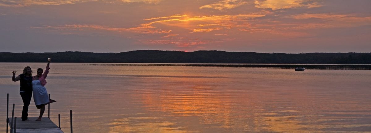
[[[368,64],[84,64],[104,66],[171,66],[171,67],[243,67],[243,68],[278,68],[294,69],[332,69],[332,70],[371,70]]]

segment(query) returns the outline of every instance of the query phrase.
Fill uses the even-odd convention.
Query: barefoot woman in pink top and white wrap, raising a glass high
[[[44,114],[45,111],[45,105],[53,102],[57,102],[55,100],[51,100],[48,97],[48,93],[45,88],[46,84],[46,76],[49,73],[49,64],[50,64],[50,59],[48,59],[47,65],[46,65],[46,70],[43,74],[43,69],[39,68],[37,69],[37,75],[33,77],[32,81],[32,91],[33,91],[33,100],[35,101],[36,108],[40,109],[40,116],[36,121],[40,121],[41,117]]]

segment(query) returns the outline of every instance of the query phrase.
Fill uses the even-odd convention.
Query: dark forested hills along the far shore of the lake
[[[82,62],[82,63],[254,63],[254,64],[371,64],[371,53],[256,53],[225,51],[139,50],[121,53],[0,52],[0,62]]]

